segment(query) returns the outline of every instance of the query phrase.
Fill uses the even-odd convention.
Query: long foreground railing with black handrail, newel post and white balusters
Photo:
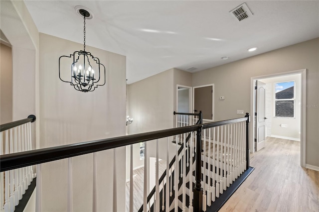
[[[82,143],[76,143],[76,144],[68,144],[68,145],[63,145],[63,146],[57,146],[57,147],[50,147],[50,148],[43,148],[43,149],[37,149],[37,150],[29,150],[29,151],[24,151],[24,152],[16,152],[16,153],[10,153],[10,154],[5,154],[5,155],[1,155],[0,156],[0,172],[6,172],[6,171],[10,171],[10,170],[14,170],[14,169],[18,169],[18,168],[22,168],[22,167],[27,167],[27,166],[31,166],[31,165],[37,165],[37,185],[41,185],[41,183],[38,184],[38,181],[41,182],[41,164],[42,163],[46,163],[46,162],[50,162],[50,161],[55,161],[55,160],[60,160],[60,159],[64,159],[64,158],[69,158],[71,159],[74,156],[79,156],[79,155],[84,155],[84,154],[88,154],[88,153],[96,153],[98,151],[103,151],[103,150],[107,150],[107,149],[114,149],[117,147],[122,147],[122,146],[127,146],[127,145],[131,145],[131,144],[135,144],[135,143],[140,143],[140,142],[145,142],[145,158],[148,157],[148,151],[147,151],[147,143],[146,141],[151,141],[151,140],[157,140],[157,146],[159,144],[159,139],[160,138],[166,138],[166,142],[167,142],[167,146],[169,143],[171,143],[169,139],[172,138],[172,136],[182,136],[183,137],[183,142],[182,142],[182,150],[181,152],[179,152],[178,150],[180,149],[180,147],[178,147],[178,145],[176,145],[176,154],[175,154],[175,162],[174,163],[174,170],[169,169],[172,167],[171,166],[167,166],[168,167],[168,172],[166,169],[166,181],[162,180],[162,184],[167,184],[167,185],[175,185],[175,193],[174,193],[174,197],[169,199],[169,190],[168,190],[168,186],[162,186],[161,187],[165,187],[165,191],[164,192],[164,198],[160,198],[160,179],[159,179],[159,169],[157,166],[157,180],[156,180],[156,189],[155,189],[155,203],[159,203],[156,204],[156,207],[152,207],[150,204],[150,199],[148,200],[148,192],[147,192],[147,184],[148,184],[148,180],[147,180],[147,174],[148,170],[147,170],[147,164],[145,166],[145,178],[144,178],[144,205],[143,205],[143,211],[160,211],[160,199],[165,199],[165,201],[162,201],[162,203],[165,204],[164,208],[165,211],[171,211],[172,209],[174,209],[175,212],[178,211],[178,208],[181,208],[182,210],[186,210],[186,206],[185,204],[185,193],[187,191],[186,188],[186,183],[189,182],[189,191],[193,190],[194,194],[192,195],[190,192],[190,200],[193,200],[193,204],[192,206],[188,207],[188,210],[191,211],[193,208],[193,211],[202,211],[202,209],[205,209],[206,204],[204,204],[203,206],[203,188],[204,191],[206,191],[206,185],[207,184],[207,180],[206,180],[206,174],[205,172],[203,173],[204,177],[204,181],[205,183],[203,183],[203,186],[201,186],[202,183],[202,169],[205,170],[204,168],[202,168],[202,164],[203,167],[206,167],[206,161],[203,163],[203,160],[205,159],[205,156],[202,155],[202,150],[205,151],[205,148],[203,148],[202,144],[204,144],[204,146],[206,145],[206,141],[202,143],[202,139],[204,138],[204,140],[207,137],[207,133],[209,134],[209,131],[206,131],[206,129],[211,129],[211,128],[215,128],[215,127],[219,127],[216,130],[216,136],[218,137],[218,132],[219,134],[221,133],[221,127],[222,125],[226,125],[226,124],[237,124],[239,122],[243,122],[246,121],[246,123],[248,124],[248,117],[245,118],[237,118],[237,119],[231,119],[231,120],[226,120],[226,121],[217,121],[217,122],[211,122],[211,123],[206,123],[206,124],[196,124],[196,125],[192,125],[192,126],[183,126],[183,127],[178,127],[178,128],[172,128],[172,129],[165,129],[165,130],[159,130],[159,131],[154,131],[154,132],[147,132],[147,133],[140,133],[140,134],[134,134],[134,135],[127,135],[127,136],[120,136],[120,137],[115,137],[115,138],[107,138],[107,139],[101,139],[101,140],[95,140],[95,141],[88,141],[88,142],[82,142]],[[236,136],[238,135],[239,138],[244,138],[245,137],[245,128],[242,127],[242,123],[241,126],[236,126],[237,129],[239,129],[239,131],[236,131]],[[228,127],[228,126],[227,126]],[[236,128],[235,127],[235,128]],[[246,127],[246,136],[248,136],[247,133],[247,129],[248,127]],[[204,130],[204,131],[203,131]],[[211,130],[210,130],[211,131]],[[196,140],[193,139],[195,136],[193,136],[193,133],[196,132]],[[203,132],[203,136],[202,136],[202,132]],[[186,137],[187,137],[187,133],[191,133],[190,135],[190,140],[191,142],[189,142],[189,148],[186,148]],[[223,131],[224,133],[224,131]],[[232,135],[233,137],[235,136],[235,133],[233,133]],[[209,136],[208,136],[209,137]],[[222,140],[218,140],[217,137],[215,138],[215,145],[219,145],[222,146]],[[247,138],[247,137],[246,137]],[[232,159],[228,159],[226,162],[222,162],[220,165],[220,160],[215,160],[215,167],[213,168],[215,172],[214,176],[215,179],[217,179],[217,177],[219,177],[218,179],[220,180],[220,177],[226,176],[227,179],[227,174],[230,174],[229,172],[227,172],[226,169],[222,169],[222,166],[229,166],[229,168],[232,168],[233,173],[236,173],[236,175],[238,175],[238,173],[241,172],[241,168],[243,167],[243,163],[245,162],[245,159],[243,158],[243,156],[246,153],[246,157],[247,157],[247,151],[248,151],[248,144],[245,146],[242,143],[243,139],[233,139],[233,142],[230,142],[230,144],[228,145],[227,143],[227,148],[232,148],[232,154],[229,154],[229,156],[232,156]],[[196,145],[194,144],[194,142],[196,142]],[[248,141],[248,138],[246,139],[246,141]],[[214,142],[214,139],[209,140],[209,142]],[[238,146],[238,144],[240,144]],[[208,144],[209,145],[209,144]],[[225,146],[225,144],[224,144]],[[216,147],[217,148],[217,147]],[[246,148],[246,149],[245,149]],[[190,162],[189,164],[189,170],[188,172],[186,171],[186,151],[187,149],[195,149],[195,153],[194,154],[190,154],[189,158],[195,159],[195,167],[192,167],[193,163]],[[218,147],[217,149],[220,149],[220,147]],[[115,149],[116,150],[116,149]],[[246,151],[245,151],[246,150]],[[208,150],[209,151],[209,150]],[[223,147],[223,151],[225,151],[225,148]],[[192,151],[191,151],[192,152]],[[221,151],[219,151],[221,152]],[[227,152],[227,151],[226,151]],[[234,156],[235,154],[235,156]],[[93,154],[95,155],[95,154]],[[219,156],[219,153],[216,154],[218,155],[218,157],[221,158],[225,158],[225,157],[221,157]],[[239,157],[237,157],[239,156]],[[168,156],[167,156],[168,158]],[[226,157],[227,158],[227,157]],[[239,158],[239,159],[238,159]],[[96,158],[93,159],[93,161],[95,161]],[[147,160],[145,160],[147,161]],[[157,164],[159,161],[159,154],[158,154],[158,148],[157,148]],[[192,160],[190,160],[192,161]],[[209,161],[207,159],[207,161]],[[223,160],[224,161],[224,160]],[[247,161],[248,158],[246,158],[246,167],[247,167]],[[70,162],[70,161],[69,161]],[[122,163],[125,163],[125,161],[120,161]],[[167,160],[168,162],[168,160]],[[229,163],[228,163],[229,162]],[[232,166],[230,165],[230,163],[232,162]],[[183,166],[181,166],[181,163],[183,163]],[[217,164],[219,163],[219,166],[217,167]],[[225,164],[225,165],[224,165]],[[229,164],[229,165],[228,165]],[[72,163],[69,163],[69,169],[71,167],[72,170]],[[170,165],[170,164],[169,164]],[[249,163],[248,163],[249,166]],[[95,165],[94,165],[95,167]],[[114,166],[115,167],[115,166]],[[192,184],[192,179],[193,179],[193,168],[195,171],[195,186],[193,187]],[[211,169],[211,167],[209,168]],[[93,170],[95,170],[95,168],[93,168]],[[224,171],[225,170],[225,171]],[[169,173],[169,172],[176,172],[175,174]],[[188,175],[186,175],[188,173]],[[221,173],[223,173],[223,175],[221,175]],[[225,173],[225,174],[224,174]],[[69,176],[68,179],[70,178],[71,175],[71,179],[72,179],[72,171],[68,172]],[[113,179],[116,179],[116,170],[115,172],[112,173],[112,175],[115,175],[113,177]],[[179,181],[180,179],[185,179],[183,181]],[[189,180],[188,180],[189,179]],[[230,179],[230,178],[229,178]],[[167,181],[174,181],[174,183],[167,183]],[[179,182],[178,182],[179,181]],[[209,180],[210,181],[210,180]],[[99,182],[97,182],[97,178],[94,177],[93,178],[93,206],[92,206],[92,211],[98,211],[97,209],[97,200],[96,200],[96,190],[97,190],[97,186]],[[68,186],[68,194],[72,194],[72,181],[70,183],[71,185]],[[216,185],[216,183],[215,183]],[[211,184],[210,184],[211,186]],[[203,187],[203,188],[202,188]],[[226,184],[227,187],[227,184]],[[94,189],[95,188],[95,189]],[[192,189],[194,188],[194,189]],[[223,184],[223,188],[224,188],[224,184]],[[217,190],[217,189],[216,189]],[[168,192],[167,192],[168,191]],[[181,193],[182,195],[182,201],[179,201],[179,193]],[[42,211],[42,205],[41,205],[41,189],[38,189],[37,186],[37,193],[36,193],[36,211]],[[117,184],[116,182],[113,184],[113,194],[117,194]],[[121,194],[120,194],[121,195]],[[122,194],[123,196],[125,196],[124,194]],[[116,198],[113,198],[116,200]],[[170,204],[170,202],[172,202]],[[72,195],[68,196],[68,211],[72,211]],[[70,206],[70,207],[69,207]],[[113,206],[107,206],[108,209],[113,211],[117,211],[117,205],[116,205],[116,201],[113,202]]]

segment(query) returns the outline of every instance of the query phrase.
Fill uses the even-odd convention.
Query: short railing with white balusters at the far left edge
[[[0,155],[32,149],[31,122],[34,115],[0,125]],[[7,170],[0,174],[0,211],[13,212],[33,179],[32,167]],[[4,182],[4,183],[3,183]]]

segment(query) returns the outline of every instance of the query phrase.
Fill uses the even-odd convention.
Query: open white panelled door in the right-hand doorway
[[[255,145],[256,145],[256,151],[259,151],[260,149],[265,147],[265,88],[266,84],[258,81],[256,82],[256,138],[255,138]]]

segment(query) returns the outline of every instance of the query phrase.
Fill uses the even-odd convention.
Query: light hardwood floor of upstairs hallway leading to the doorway
[[[319,172],[300,166],[300,142],[268,137],[250,166],[220,212],[319,212]]]

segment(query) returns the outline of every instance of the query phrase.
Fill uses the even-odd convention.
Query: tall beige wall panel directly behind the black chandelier
[[[40,33],[40,148],[125,135],[126,57],[87,46],[105,65],[107,78],[105,86],[83,93],[58,75],[59,57],[82,48],[83,44]],[[62,69],[68,71],[69,66]],[[125,147],[117,149],[118,211],[125,211],[125,153]],[[98,152],[97,158],[98,211],[110,211],[113,150]],[[72,160],[73,209],[91,211],[93,154]],[[42,177],[43,211],[66,211],[67,160],[43,164]]]

